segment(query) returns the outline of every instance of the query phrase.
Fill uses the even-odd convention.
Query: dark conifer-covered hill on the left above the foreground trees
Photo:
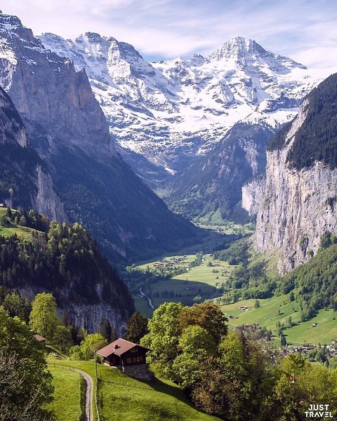
[[[128,288],[78,223],[48,222],[34,210],[7,213],[9,227],[32,227],[30,238],[0,236],[0,285],[28,298],[53,293],[78,327],[98,328],[105,318],[120,333],[134,307]]]

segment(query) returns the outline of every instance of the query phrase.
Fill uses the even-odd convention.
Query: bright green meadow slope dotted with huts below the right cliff
[[[298,323],[292,328],[284,329],[284,335],[288,342],[303,344],[304,342],[318,345],[329,344],[331,339],[337,336],[336,313],[330,310],[320,310],[310,321],[300,322],[300,312],[296,301],[289,302],[289,295],[258,300],[260,307],[254,308],[255,300],[242,300],[230,305],[223,305],[221,309],[227,316],[238,316],[238,319],[229,319],[230,326],[240,326],[244,323],[258,323],[268,329],[275,330],[276,322],[284,323],[291,316],[293,323]],[[248,311],[242,311],[239,306],[249,307]],[[279,309],[280,314],[277,315]],[[335,318],[335,319],[334,319]],[[317,323],[316,327],[312,327]]]

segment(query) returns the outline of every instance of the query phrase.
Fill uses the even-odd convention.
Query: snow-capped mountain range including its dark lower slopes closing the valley
[[[121,156],[173,210],[194,219],[244,218],[241,187],[263,173],[267,142],[333,72],[239,36],[207,57],[160,62],[92,32],[39,39],[86,70]]]

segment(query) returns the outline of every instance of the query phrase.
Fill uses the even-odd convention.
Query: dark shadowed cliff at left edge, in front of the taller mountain
[[[53,220],[65,218],[53,180],[29,138],[11,98],[0,88],[0,201],[14,208],[34,208]]]

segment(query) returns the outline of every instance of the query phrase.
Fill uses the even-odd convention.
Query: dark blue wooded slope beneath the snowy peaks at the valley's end
[[[177,176],[167,199],[171,208],[187,218],[218,211],[225,220],[243,222],[242,186],[263,173],[265,148],[274,133],[267,124],[235,124],[212,152]]]

